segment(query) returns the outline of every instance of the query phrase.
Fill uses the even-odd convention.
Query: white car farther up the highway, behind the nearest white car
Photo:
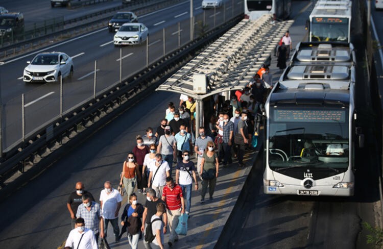
[[[148,28],[142,23],[124,23],[114,35],[113,43],[115,46],[139,44],[148,36]]]

